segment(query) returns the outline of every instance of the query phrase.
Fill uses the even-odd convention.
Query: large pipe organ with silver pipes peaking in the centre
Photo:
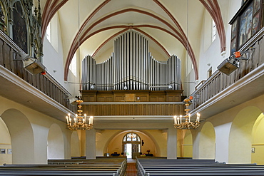
[[[113,50],[103,63],[83,58],[83,90],[181,90],[181,60],[173,55],[166,62],[157,61],[141,33],[121,34]]]

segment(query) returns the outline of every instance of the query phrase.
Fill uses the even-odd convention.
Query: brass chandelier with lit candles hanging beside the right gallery
[[[174,128],[177,129],[196,129],[200,126],[200,113],[197,113],[196,116],[196,122],[191,122],[191,113],[189,113],[190,109],[189,107],[189,103],[191,101],[192,97],[190,98],[186,98],[184,100],[184,103],[186,105],[186,109],[184,111],[186,111],[186,115],[175,115],[174,116]]]

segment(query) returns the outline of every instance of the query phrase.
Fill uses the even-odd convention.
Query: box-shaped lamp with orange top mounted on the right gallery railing
[[[229,76],[231,73],[233,73],[233,71],[239,68],[239,63],[241,60],[248,61],[251,58],[254,50],[255,48],[250,48],[248,51],[235,52],[232,56],[225,58],[225,60],[220,63],[220,65],[217,67],[218,71],[221,71]]]

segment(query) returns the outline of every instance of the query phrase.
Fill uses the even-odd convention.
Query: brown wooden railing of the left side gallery
[[[49,73],[45,76],[41,74],[32,76],[23,68],[22,61],[14,61],[17,51],[21,51],[21,48],[16,46],[16,43],[0,30],[0,65],[31,84],[31,86],[41,90],[41,92],[56,100],[58,103],[61,103],[61,105],[64,105],[69,110],[74,110],[76,107],[70,105],[70,102],[67,99],[67,90],[54,80]]]

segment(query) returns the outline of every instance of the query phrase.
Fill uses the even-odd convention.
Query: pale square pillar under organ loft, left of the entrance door
[[[86,159],[96,159],[96,130],[86,130]]]

